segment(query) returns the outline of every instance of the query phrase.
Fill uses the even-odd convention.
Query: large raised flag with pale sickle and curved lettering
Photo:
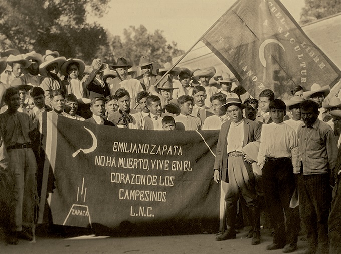
[[[341,75],[279,0],[237,0],[202,41],[253,96],[269,88],[286,98],[295,85],[332,87]]]

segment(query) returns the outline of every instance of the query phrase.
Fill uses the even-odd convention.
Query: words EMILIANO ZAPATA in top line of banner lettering
[[[136,144],[115,141],[112,147],[113,152],[136,153],[136,154],[155,154],[155,155],[183,155],[181,146],[176,145],[155,145],[155,144]]]

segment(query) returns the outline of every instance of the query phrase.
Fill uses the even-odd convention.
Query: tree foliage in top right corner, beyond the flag
[[[306,24],[339,12],[341,12],[341,0],[305,0],[300,23]]]

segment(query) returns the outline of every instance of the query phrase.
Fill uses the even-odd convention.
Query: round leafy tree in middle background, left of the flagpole
[[[123,40],[120,36],[114,36],[111,39],[110,46],[113,55],[125,57],[131,64],[137,66],[140,57],[148,55],[152,61],[157,61],[155,67],[163,66],[166,62],[172,62],[172,58],[184,54],[183,50],[177,48],[177,43],[167,43],[163,36],[163,31],[155,30],[149,33],[147,29],[140,25],[139,27],[129,26],[123,31]]]

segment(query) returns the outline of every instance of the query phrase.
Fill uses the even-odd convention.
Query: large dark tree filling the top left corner
[[[0,47],[22,53],[58,50],[65,57],[91,62],[108,47],[106,31],[89,24],[87,14],[101,17],[109,0],[0,0]]]

